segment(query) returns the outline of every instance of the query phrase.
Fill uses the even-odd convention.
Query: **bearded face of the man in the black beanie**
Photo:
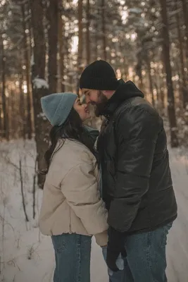
[[[101,90],[82,89],[85,95],[85,102],[94,106],[94,113],[96,116],[103,114],[108,98]]]

